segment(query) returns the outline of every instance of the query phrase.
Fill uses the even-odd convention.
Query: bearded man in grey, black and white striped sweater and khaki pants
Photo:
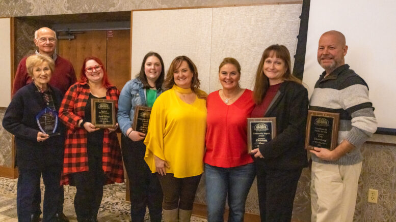
[[[360,147],[377,130],[368,86],[345,64],[345,36],[327,31],[319,40],[318,62],[325,69],[309,109],[340,114],[337,147],[314,148],[311,173],[312,222],[353,220],[362,166]]]

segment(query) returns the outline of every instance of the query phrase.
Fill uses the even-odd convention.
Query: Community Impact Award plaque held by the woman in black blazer
[[[276,136],[276,117],[248,118],[248,153]]]

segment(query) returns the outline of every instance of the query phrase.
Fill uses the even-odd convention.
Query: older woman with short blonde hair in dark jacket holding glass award
[[[3,119],[3,127],[15,135],[18,165],[17,215],[18,221],[38,221],[32,209],[33,196],[45,185],[43,221],[58,221],[57,206],[63,188],[60,178],[63,163],[64,125],[57,122],[56,130],[41,129],[36,117],[44,109],[57,116],[62,93],[48,84],[54,71],[54,60],[44,55],[32,55],[26,66],[33,82],[20,88],[12,98]],[[44,129],[43,129],[44,128]],[[44,133],[45,132],[45,133]],[[49,137],[49,133],[60,135]]]

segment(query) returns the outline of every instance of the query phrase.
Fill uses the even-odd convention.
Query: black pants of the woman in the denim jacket
[[[129,179],[130,216],[132,222],[141,222],[146,214],[150,221],[160,222],[162,218],[163,194],[156,173],[151,173],[143,157],[146,146],[142,141],[134,142],[122,135],[121,150]]]

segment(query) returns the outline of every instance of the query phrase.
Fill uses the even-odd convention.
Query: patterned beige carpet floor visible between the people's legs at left
[[[16,222],[16,183],[17,179],[0,177],[0,221]],[[70,221],[77,221],[74,212],[74,186],[64,186],[65,203],[63,212]],[[41,185],[41,195],[44,195],[44,184]],[[41,202],[42,203],[42,202]],[[125,184],[104,186],[103,199],[100,205],[99,222],[130,221],[130,204],[125,201]],[[148,212],[145,221],[150,221]],[[206,219],[192,216],[191,221],[206,222]]]

